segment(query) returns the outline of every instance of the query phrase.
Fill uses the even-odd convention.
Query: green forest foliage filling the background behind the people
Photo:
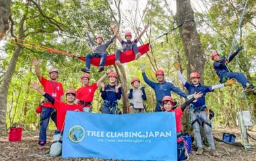
[[[218,50],[223,55],[228,55],[232,39],[236,32],[238,19],[243,11],[243,1],[232,2],[215,2],[212,3],[209,11],[205,13],[195,12],[195,20],[197,23],[197,31],[200,34],[201,46],[203,48],[205,59],[207,60],[204,68],[205,85],[218,84],[218,77],[212,66],[210,53],[212,50]],[[167,1],[150,1],[150,5],[146,11],[146,16],[143,19],[147,22],[149,19],[152,21],[152,27],[148,31],[150,40],[154,40],[159,35],[166,33],[175,26],[179,25],[174,23],[173,13],[170,11],[169,6],[166,5]],[[247,77],[250,76],[251,82],[256,84],[255,76],[255,24],[253,23],[253,16],[255,16],[256,1],[249,1],[247,13],[243,21],[242,36],[238,39],[238,44],[241,43],[245,46],[245,50],[238,55],[239,68],[236,68],[236,61],[234,60],[229,66],[236,72],[244,72]],[[42,17],[38,9],[32,3],[24,1],[13,1],[11,11],[13,13],[13,20],[15,22],[14,33],[18,35],[19,22],[21,15],[26,15],[26,32],[28,34],[26,41],[48,46],[67,53],[79,54],[84,56],[92,52],[86,36],[82,32],[84,25],[88,26],[90,34],[93,38],[96,34],[102,34],[105,40],[108,40],[113,35],[109,28],[109,23],[112,20],[110,11],[108,10],[108,1],[40,1],[40,7],[44,14],[48,17],[55,19],[59,24],[54,25]],[[144,42],[147,43],[148,41]],[[163,42],[163,43],[162,43]],[[162,43],[162,44],[161,44]],[[26,44],[26,43],[25,43]],[[49,53],[45,50],[34,48],[31,44],[25,45],[33,51],[24,49],[18,60],[15,74],[11,80],[11,86],[8,94],[7,106],[7,127],[14,122],[24,123],[24,125],[34,128],[38,125],[38,115],[35,113],[37,105],[42,101],[43,97],[36,91],[29,87],[32,81],[38,81],[34,72],[34,66],[31,63],[32,57],[40,60],[40,71],[43,76],[48,78],[48,70],[52,66],[59,68],[59,81],[63,83],[64,89],[75,88],[77,89],[82,84],[80,83],[80,68],[85,63],[69,58],[67,56],[55,53]],[[142,56],[139,60],[125,64],[127,74],[127,86],[129,88],[130,80],[133,77],[141,79],[141,86],[146,87],[148,96],[148,111],[154,111],[155,96],[154,91],[143,82],[139,66],[142,63],[147,64],[146,73],[148,78],[156,80],[154,70],[156,68],[163,68],[166,71],[166,80],[171,81],[185,91],[179,77],[174,71],[174,62],[181,62],[183,74],[187,73],[187,61],[185,60],[185,52],[183,50],[183,43],[179,36],[179,30],[174,30],[168,34],[168,42],[166,36],[156,40],[151,44],[152,51],[148,52],[148,56]],[[17,46],[8,42],[5,45],[6,57],[1,56],[0,59],[0,81],[5,73],[5,69],[9,64],[9,60]],[[109,53],[114,53],[113,46],[108,49]],[[155,63],[156,62],[156,63]],[[246,68],[245,68],[246,67]],[[92,67],[92,79],[90,83],[96,82],[101,74],[97,72],[96,67]],[[104,80],[107,83],[107,79]],[[207,107],[214,109],[216,113],[215,122],[217,124],[234,126],[236,125],[235,115],[238,109],[247,109],[245,98],[241,97],[241,85],[236,85],[232,88],[225,87],[217,89],[214,93],[207,94],[206,103]],[[175,99],[182,103],[184,100],[173,93]],[[249,96],[249,105],[251,109],[255,109],[254,97]],[[96,91],[94,96],[94,112],[100,112],[100,105],[102,99],[99,90]],[[120,103],[121,105],[122,103]],[[253,111],[254,117],[256,111]],[[51,125],[54,128],[53,125]]]

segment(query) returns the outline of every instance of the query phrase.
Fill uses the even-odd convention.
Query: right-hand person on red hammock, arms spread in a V
[[[146,32],[146,30],[148,29],[148,27],[150,26],[150,24],[148,23],[144,30],[141,32],[141,34],[139,34],[139,36],[137,38],[135,38],[133,41],[131,41],[132,35],[131,32],[125,32],[125,40],[122,40],[122,38],[119,36],[119,34],[117,34],[117,40],[119,40],[119,42],[121,43],[122,47],[123,47],[123,51],[122,50],[117,50],[116,51],[116,65],[120,65],[120,55],[122,52],[125,52],[127,50],[133,50],[134,54],[135,54],[135,59],[138,59],[141,56],[141,53],[139,52],[138,48],[137,48],[137,42],[139,42],[141,36]],[[110,28],[115,29],[115,33],[117,32],[117,28],[115,28],[114,23],[110,23]]]

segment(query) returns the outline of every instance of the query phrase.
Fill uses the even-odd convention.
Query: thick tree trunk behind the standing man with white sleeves
[[[189,74],[197,71],[201,75],[200,82],[203,83],[203,66],[205,59],[203,58],[201,42],[199,34],[196,30],[194,21],[194,11],[191,7],[190,0],[177,0],[177,13],[175,20],[179,27],[179,33],[183,41],[185,49],[185,56],[187,59],[187,80],[189,80]],[[187,115],[183,116],[183,129],[187,131],[189,129],[189,118]]]

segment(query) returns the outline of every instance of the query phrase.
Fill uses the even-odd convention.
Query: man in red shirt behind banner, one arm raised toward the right
[[[82,87],[77,89],[76,91],[76,98],[75,98],[75,103],[79,103],[83,107],[83,111],[85,112],[91,112],[92,111],[92,101],[94,99],[94,93],[96,89],[98,89],[98,86],[102,82],[104,78],[112,71],[111,68],[108,68],[106,70],[106,73],[103,74],[100,79],[92,84],[89,85],[90,82],[90,75],[89,74],[84,74],[81,77],[81,82],[82,82]]]

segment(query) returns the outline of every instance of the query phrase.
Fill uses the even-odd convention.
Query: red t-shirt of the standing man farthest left
[[[54,82],[52,80],[48,80],[42,76],[40,83],[42,87],[44,87],[44,92],[48,93],[55,100],[61,100],[61,96],[64,95],[62,84],[59,82]],[[53,108],[53,104],[51,102],[43,103],[44,107]]]

